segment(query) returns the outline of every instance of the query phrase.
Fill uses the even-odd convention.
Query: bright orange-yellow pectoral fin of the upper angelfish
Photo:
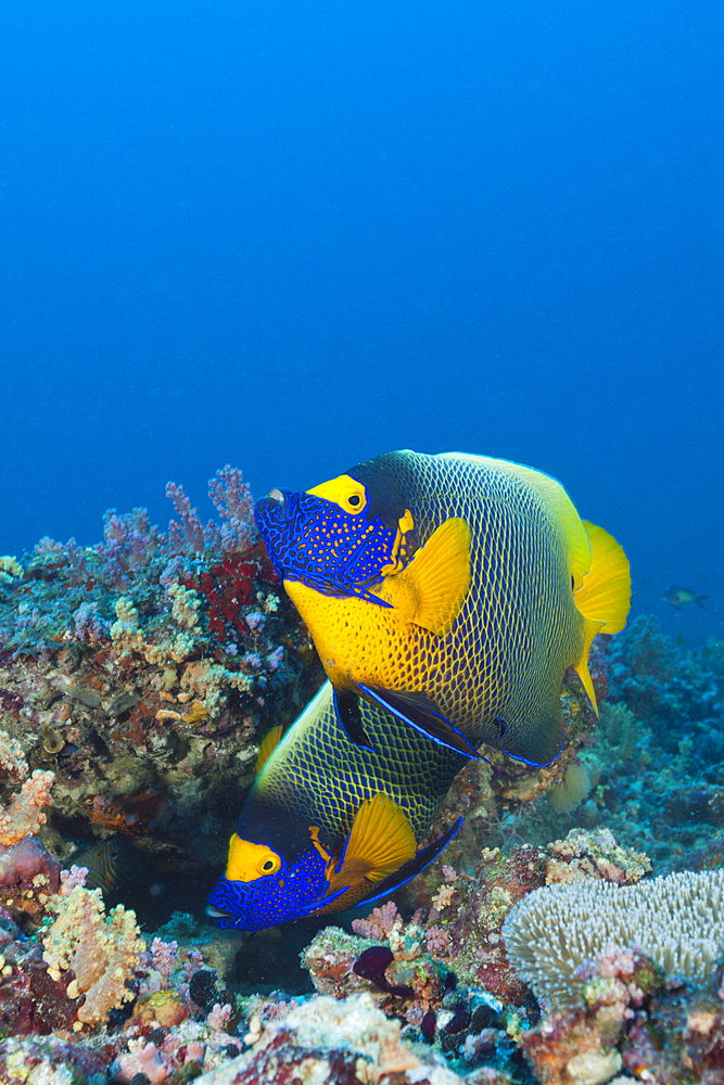
[[[460,613],[470,587],[470,528],[452,516],[433,532],[407,569],[380,592],[403,618],[442,637]]]

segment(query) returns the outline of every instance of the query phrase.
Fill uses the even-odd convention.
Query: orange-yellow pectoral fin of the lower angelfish
[[[415,857],[415,833],[405,812],[389,795],[377,794],[361,804],[339,863],[330,871],[330,890],[354,885],[366,878],[378,882]]]

